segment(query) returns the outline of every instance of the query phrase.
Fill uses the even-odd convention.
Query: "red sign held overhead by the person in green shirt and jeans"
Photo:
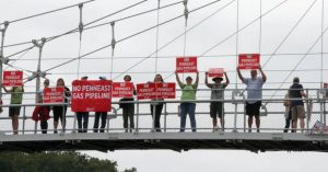
[[[197,72],[197,57],[177,57],[176,72]]]

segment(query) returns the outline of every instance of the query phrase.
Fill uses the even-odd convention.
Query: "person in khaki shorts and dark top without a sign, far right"
[[[293,84],[290,88],[290,99],[291,100],[291,108],[292,108],[292,126],[293,130],[297,129],[297,119],[300,119],[301,131],[304,131],[305,123],[305,111],[304,111],[304,102],[302,98],[306,98],[306,94],[303,90],[303,85],[300,84],[300,78],[295,77],[293,79]]]

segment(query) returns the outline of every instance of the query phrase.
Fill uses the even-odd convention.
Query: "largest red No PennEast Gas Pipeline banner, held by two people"
[[[72,112],[110,111],[110,80],[75,80],[72,87]]]

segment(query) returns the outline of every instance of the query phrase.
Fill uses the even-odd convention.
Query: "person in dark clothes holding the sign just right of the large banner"
[[[125,82],[131,82],[131,76],[127,74],[124,78]],[[133,94],[137,95],[136,88],[133,87]],[[120,100],[121,103],[120,107],[122,108],[122,117],[124,117],[124,128],[125,131],[132,133],[132,129],[134,128],[134,104],[129,103],[130,101],[134,101],[133,98],[124,98]],[[129,126],[129,119],[130,119],[130,129],[128,129]]]

